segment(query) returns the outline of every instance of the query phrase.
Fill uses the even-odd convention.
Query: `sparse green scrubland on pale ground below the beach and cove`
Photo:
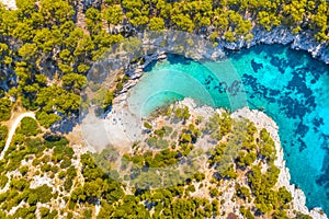
[[[309,218],[277,183],[270,134],[245,118],[225,111],[203,117],[174,104],[145,122],[132,148],[81,153],[22,119],[1,161],[1,217]],[[191,157],[204,159],[193,164]],[[191,163],[179,174],[184,162]]]

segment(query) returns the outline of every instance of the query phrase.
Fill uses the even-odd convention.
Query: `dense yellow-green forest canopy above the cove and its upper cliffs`
[[[0,5],[0,85],[49,127],[58,115],[78,112],[79,92],[93,61],[135,31],[173,28],[211,41],[250,41],[251,30],[311,30],[328,42],[325,0],[106,0],[86,7],[76,0],[16,0]],[[118,26],[129,28],[117,28]],[[63,100],[70,100],[69,102]],[[4,103],[3,103],[4,104]],[[56,114],[54,114],[56,113]]]

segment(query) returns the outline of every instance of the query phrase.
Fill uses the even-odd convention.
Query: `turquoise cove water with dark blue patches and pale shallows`
[[[280,127],[292,183],[307,206],[329,214],[329,67],[280,45],[230,54],[220,62],[169,55],[154,62],[128,94],[131,110],[147,116],[157,107],[192,97],[235,111],[262,108]]]

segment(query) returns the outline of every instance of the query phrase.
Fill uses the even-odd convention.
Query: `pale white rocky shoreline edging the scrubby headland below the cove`
[[[215,110],[209,106],[197,106],[195,102],[190,97],[185,97],[183,101],[180,101],[177,104],[179,106],[188,106],[192,115],[202,116],[204,118],[208,118],[216,112],[219,114],[222,113],[220,108]],[[271,138],[274,140],[276,149],[276,159],[274,161],[274,164],[280,169],[280,175],[277,178],[276,187],[285,186],[293,197],[293,209],[288,211],[290,217],[295,217],[294,210],[296,210],[302,214],[308,215],[311,218],[327,219],[328,217],[321,208],[308,209],[306,206],[306,196],[304,192],[300,188],[298,188],[295,184],[291,184],[291,174],[290,170],[285,166],[283,148],[281,146],[279,137],[279,127],[275,124],[275,122],[263,112],[250,110],[249,107],[238,110],[234,112],[230,116],[236,119],[247,118],[254,124],[259,131],[265,128],[270,132]],[[235,206],[237,205],[237,203],[230,201],[231,197],[234,196],[234,193],[235,189],[228,192],[227,194],[227,196],[230,198],[228,198],[226,207],[230,208],[231,210],[235,209]],[[236,208],[238,209],[238,207]]]

